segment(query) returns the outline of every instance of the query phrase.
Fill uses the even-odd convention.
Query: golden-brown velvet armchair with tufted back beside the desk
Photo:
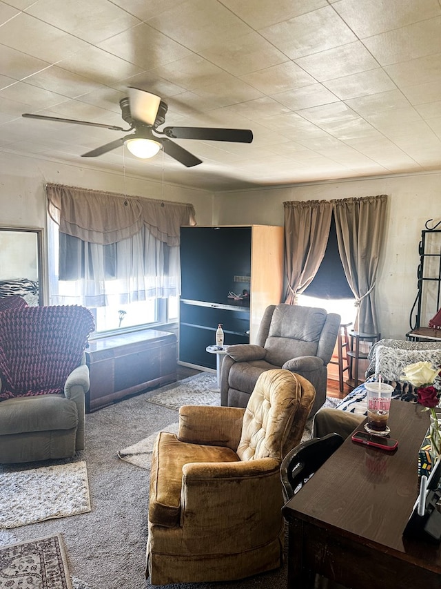
[[[153,585],[243,579],[282,564],[280,463],[314,397],[305,378],[276,369],[258,378],[246,409],[181,407],[178,436],[161,432],[152,458]]]

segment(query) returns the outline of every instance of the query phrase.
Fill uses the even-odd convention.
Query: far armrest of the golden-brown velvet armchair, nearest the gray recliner
[[[245,409],[183,405],[179,409],[178,439],[193,444],[229,447],[236,452]]]

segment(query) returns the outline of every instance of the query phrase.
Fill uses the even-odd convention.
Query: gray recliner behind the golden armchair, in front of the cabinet
[[[220,404],[246,407],[265,370],[284,368],[314,385],[316,400],[309,416],[325,403],[327,365],[336,345],[340,315],[298,305],[270,305],[256,344],[228,347],[220,374]]]

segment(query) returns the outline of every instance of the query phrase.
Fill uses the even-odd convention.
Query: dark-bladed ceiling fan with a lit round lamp
[[[112,131],[123,131],[125,133],[134,131],[130,135],[125,135],[101,147],[92,149],[88,153],[83,153],[81,157],[103,155],[103,153],[112,151],[112,149],[125,144],[133,155],[141,158],[153,157],[162,148],[174,160],[181,162],[187,168],[191,168],[192,166],[201,164],[202,160],[199,160],[198,157],[189,153],[189,151],[170,139],[203,139],[205,141],[229,141],[236,143],[251,143],[253,140],[253,133],[249,129],[164,127],[159,131],[158,126],[164,124],[168,106],[160,97],[145,90],[140,90],[139,88],[129,88],[128,97],[122,98],[119,106],[121,106],[123,120],[130,125],[127,129],[115,125],[48,117],[45,115],[32,115],[30,113],[23,113],[22,116],[31,119],[45,119],[62,123],[103,127]]]

